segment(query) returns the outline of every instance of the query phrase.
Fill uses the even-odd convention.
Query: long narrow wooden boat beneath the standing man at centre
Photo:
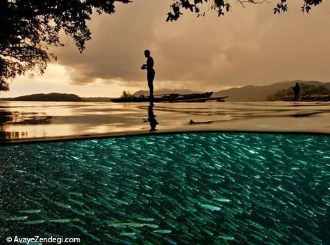
[[[223,100],[225,97],[220,98],[211,98],[213,92],[207,93],[189,93],[189,94],[179,94],[179,93],[170,93],[170,94],[162,94],[156,95],[154,98],[154,102],[205,102],[207,100]],[[129,97],[129,98],[114,98],[111,100],[112,102],[149,102],[149,96],[143,97]]]

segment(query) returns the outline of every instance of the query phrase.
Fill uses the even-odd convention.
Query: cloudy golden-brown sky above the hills
[[[277,1],[242,8],[217,17],[184,12],[166,23],[171,0],[134,0],[117,4],[114,15],[93,15],[92,40],[83,54],[73,41],[52,47],[58,61],[43,76],[14,80],[1,97],[31,93],[76,93],[79,96],[120,96],[147,89],[144,50],[155,60],[155,88],[218,91],[247,84],[284,80],[330,81],[330,3],[309,15],[302,1],[288,1],[289,11],[273,15]]]

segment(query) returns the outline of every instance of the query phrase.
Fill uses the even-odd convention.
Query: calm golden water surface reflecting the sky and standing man
[[[146,127],[145,122],[148,122],[150,127]],[[158,125],[158,122],[162,123]],[[0,102],[2,143],[10,140],[148,134],[154,131],[277,131],[329,134],[330,102],[205,102],[155,105],[148,102]]]

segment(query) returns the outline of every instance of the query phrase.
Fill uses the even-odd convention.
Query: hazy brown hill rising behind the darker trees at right
[[[229,96],[226,101],[266,101],[267,96],[270,96],[281,89],[288,89],[289,87],[293,87],[296,82],[314,86],[323,85],[324,87],[327,87],[327,89],[330,89],[330,82],[295,80],[277,82],[264,86],[248,85],[241,88],[225,89],[214,93],[212,97]]]

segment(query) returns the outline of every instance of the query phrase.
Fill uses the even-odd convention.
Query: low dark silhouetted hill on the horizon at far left
[[[13,101],[83,101],[82,98],[75,94],[69,93],[35,93],[28,96],[19,96],[16,98],[1,98],[0,100]]]

